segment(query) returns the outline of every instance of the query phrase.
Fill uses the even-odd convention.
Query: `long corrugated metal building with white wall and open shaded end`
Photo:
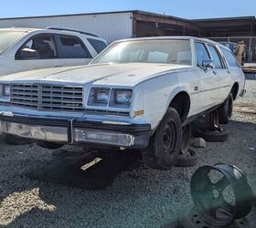
[[[121,11],[81,15],[33,16],[1,18],[0,27],[69,27],[101,36],[108,43],[134,36],[183,35],[185,31],[198,35],[198,28],[188,20],[144,11]],[[168,28],[172,26],[172,28]]]

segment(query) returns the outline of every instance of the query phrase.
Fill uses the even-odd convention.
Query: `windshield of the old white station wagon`
[[[134,40],[115,43],[96,57],[99,63],[163,63],[191,65],[189,40]]]

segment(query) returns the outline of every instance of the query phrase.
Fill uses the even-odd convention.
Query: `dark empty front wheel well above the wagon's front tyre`
[[[187,92],[179,92],[176,97],[172,99],[169,107],[176,109],[181,122],[184,123],[190,110],[190,98]]]

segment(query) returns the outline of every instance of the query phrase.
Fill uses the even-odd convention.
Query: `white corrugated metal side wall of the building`
[[[39,27],[61,26],[86,30],[112,41],[133,36],[133,13],[113,13],[78,16],[48,16],[30,18],[1,19],[0,27]]]

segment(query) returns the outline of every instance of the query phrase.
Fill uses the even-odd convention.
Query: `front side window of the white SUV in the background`
[[[50,59],[57,57],[52,36],[35,36],[16,53],[16,59]]]

